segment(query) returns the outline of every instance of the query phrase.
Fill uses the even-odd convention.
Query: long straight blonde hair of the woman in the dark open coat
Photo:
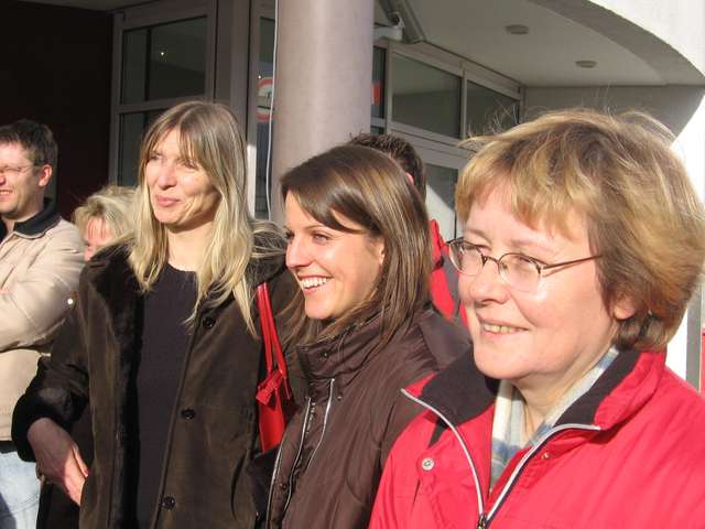
[[[161,115],[142,140],[134,240],[129,261],[142,289],[149,291],[169,256],[166,230],[152,213],[144,169],[152,151],[172,130],[180,132],[182,158],[202,168],[220,195],[213,231],[202,263],[196,270],[197,302],[204,307],[224,303],[232,294],[250,333],[254,325],[250,311],[251,278],[246,273],[252,259],[281,256],[283,239],[271,223],[256,222],[247,209],[245,140],[238,122],[226,106],[182,102]],[[254,235],[258,237],[254,246]]]

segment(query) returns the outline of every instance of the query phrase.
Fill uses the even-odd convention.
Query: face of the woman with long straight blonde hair
[[[203,168],[182,156],[178,141],[173,129],[156,143],[144,180],[156,220],[171,231],[189,231],[213,223],[220,195]]]

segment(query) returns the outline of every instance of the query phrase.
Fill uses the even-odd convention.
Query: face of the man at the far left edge
[[[41,212],[51,166],[35,166],[20,143],[0,143],[0,216],[14,225]]]

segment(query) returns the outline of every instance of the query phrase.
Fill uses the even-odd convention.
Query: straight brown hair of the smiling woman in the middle
[[[370,298],[323,330],[307,321],[304,341],[334,338],[380,313],[380,346],[386,344],[429,300],[431,240],[419,192],[391,158],[358,145],[336,147],[305,161],[282,177],[281,188],[284,198],[291,193],[325,226],[352,231],[340,224],[341,216],[384,244]]]

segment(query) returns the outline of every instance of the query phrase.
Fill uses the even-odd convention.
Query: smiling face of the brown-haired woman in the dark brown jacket
[[[329,228],[286,195],[286,266],[304,293],[306,316],[336,320],[368,299],[382,268],[384,245],[365,233]],[[346,227],[361,229],[340,216]]]

